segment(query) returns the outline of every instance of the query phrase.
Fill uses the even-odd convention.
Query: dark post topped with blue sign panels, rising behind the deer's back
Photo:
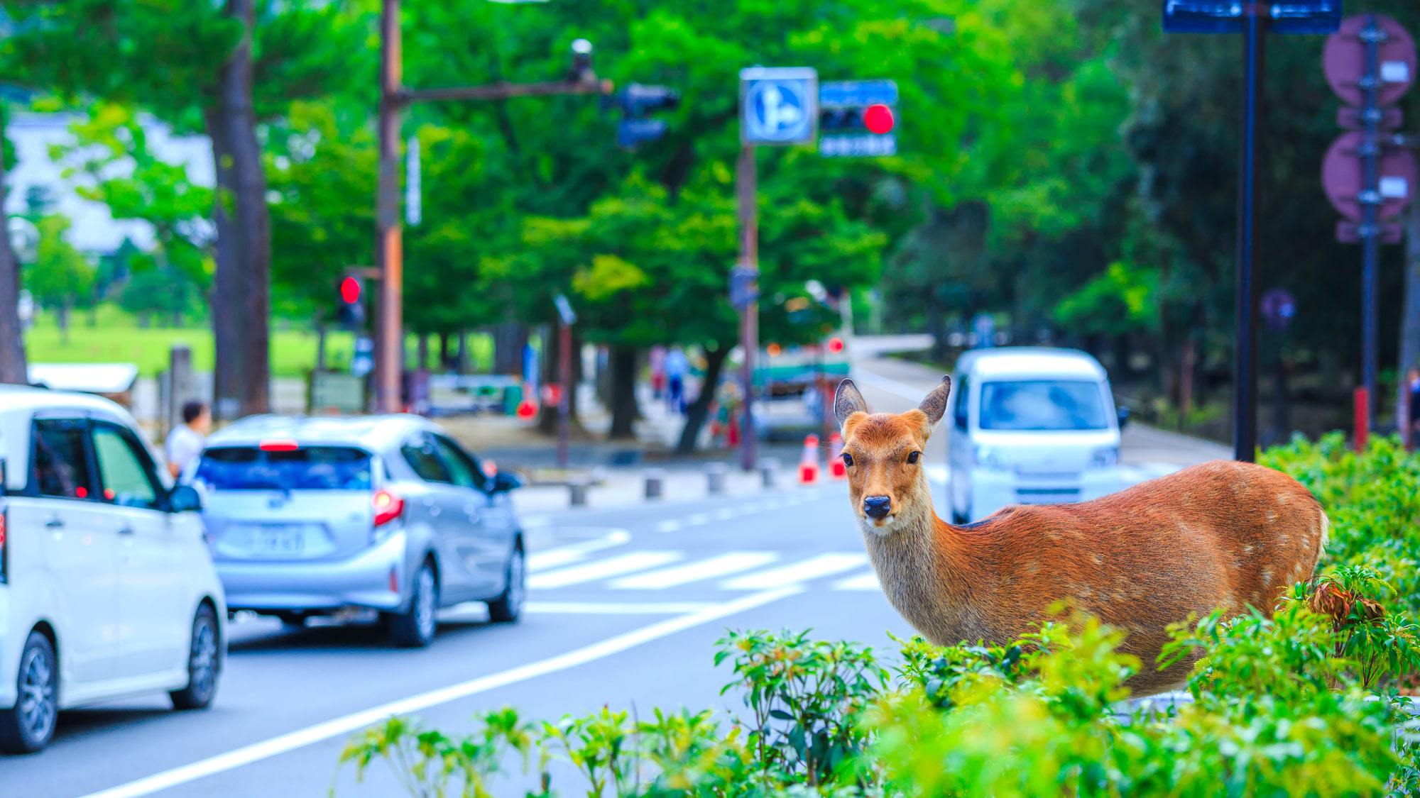
[[[1242,142],[1238,169],[1237,354],[1233,358],[1233,457],[1257,453],[1257,173],[1262,126],[1265,34],[1331,33],[1340,0],[1282,3],[1163,0],[1164,33],[1242,34]]]

